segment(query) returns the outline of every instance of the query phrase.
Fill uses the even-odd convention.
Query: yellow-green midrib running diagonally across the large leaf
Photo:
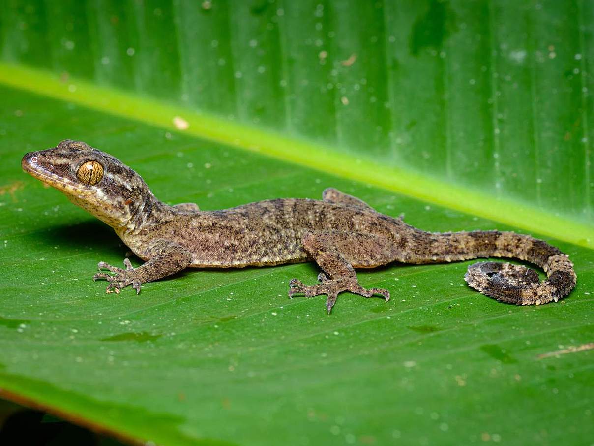
[[[220,117],[172,105],[161,100],[69,78],[62,81],[50,71],[0,62],[0,83],[50,98],[67,100],[91,109],[143,123],[182,131],[195,137],[273,156],[350,180],[373,184],[457,211],[594,248],[594,225],[553,215],[510,198],[494,199],[482,191],[447,183],[420,172],[388,167],[380,162],[339,152],[333,147],[262,128],[233,123]],[[184,130],[174,122],[182,118]],[[513,210],[513,211],[510,211]]]

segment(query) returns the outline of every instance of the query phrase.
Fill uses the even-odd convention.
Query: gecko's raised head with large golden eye
[[[153,196],[131,168],[81,141],[26,153],[21,167],[113,228],[127,225]]]

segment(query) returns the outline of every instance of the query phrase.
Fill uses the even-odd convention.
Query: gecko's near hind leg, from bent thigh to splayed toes
[[[354,241],[350,240],[353,237],[362,237],[364,241],[371,241],[371,243],[359,243],[359,246],[368,246],[369,249],[359,249],[359,252],[350,253],[350,257],[358,257],[362,265],[368,263],[368,260],[372,257],[381,255],[377,250],[376,237],[364,234],[360,235],[347,235],[344,233],[333,233],[327,232],[308,232],[302,238],[303,246],[309,255],[315,260],[315,262],[323,269],[326,274],[330,276],[328,278],[326,274],[321,272],[318,275],[319,284],[315,285],[304,285],[298,279],[291,279],[289,282],[289,297],[293,294],[302,293],[305,297],[319,296],[320,294],[327,294],[328,299],[326,300],[326,309],[328,314],[332,310],[332,307],[336,303],[338,294],[341,291],[350,291],[351,293],[360,294],[364,297],[371,297],[374,294],[381,294],[387,300],[390,300],[390,291],[384,290],[383,288],[369,288],[366,289],[359,284],[355,269],[349,261],[347,261],[345,255],[340,250],[345,249],[348,244],[352,244]],[[357,240],[361,242],[361,240]],[[380,243],[381,244],[381,243]],[[356,244],[355,244],[356,246]]]

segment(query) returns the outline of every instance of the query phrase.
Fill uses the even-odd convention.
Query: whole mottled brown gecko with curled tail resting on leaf
[[[27,153],[21,162],[33,177],[62,191],[106,224],[143,260],[125,269],[99,262],[93,279],[109,281],[107,291],[175,274],[187,267],[229,268],[316,262],[318,284],[290,281],[289,297],[327,294],[328,313],[341,291],[371,297],[390,293],[359,285],[355,268],[391,262],[438,263],[476,257],[513,257],[540,266],[548,279],[524,266],[476,263],[466,281],[488,296],[518,305],[562,299],[576,284],[567,255],[529,235],[500,231],[428,233],[376,212],[336,189],[323,199],[276,199],[221,211],[200,211],[194,203],[169,206],[154,197],[140,175],[86,143],[65,140]]]

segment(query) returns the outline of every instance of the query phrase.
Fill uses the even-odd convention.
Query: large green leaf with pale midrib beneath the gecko
[[[0,395],[158,444],[589,441],[592,3],[319,3],[0,6]],[[106,295],[127,248],[20,172],[66,138],[169,203],[332,186],[426,230],[529,231],[578,284],[515,307],[472,262],[391,265],[359,273],[390,302],[327,316],[287,299],[301,264]]]

